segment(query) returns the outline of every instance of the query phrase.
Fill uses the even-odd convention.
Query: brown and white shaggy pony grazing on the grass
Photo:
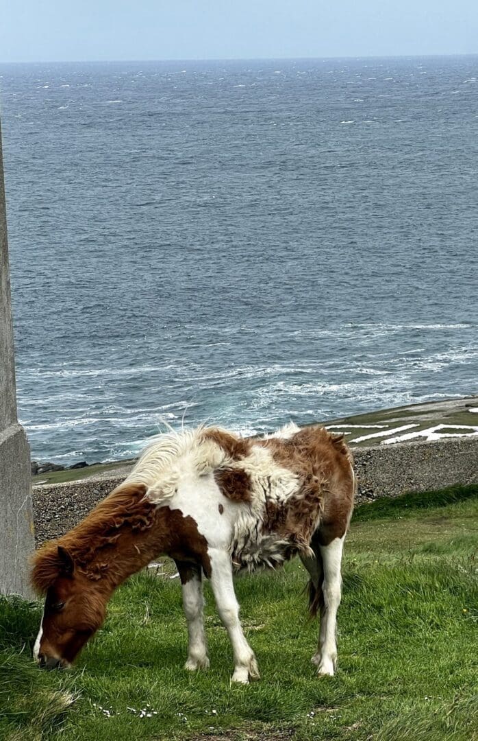
[[[102,625],[115,588],[166,554],[181,576],[186,668],[209,666],[204,575],[232,643],[232,680],[258,679],[233,575],[298,554],[310,575],[309,609],[320,611],[312,661],[318,674],[333,675],[340,561],[354,488],[348,448],[323,428],[287,425],[262,439],[206,427],[159,436],[83,522],[36,552],[32,581],[46,599],[34,657],[47,668],[69,666]]]

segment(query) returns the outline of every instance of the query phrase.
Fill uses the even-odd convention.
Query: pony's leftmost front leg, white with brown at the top
[[[189,645],[185,668],[189,671],[209,667],[203,621],[203,582],[201,566],[176,561],[183,590],[184,614],[187,620]]]

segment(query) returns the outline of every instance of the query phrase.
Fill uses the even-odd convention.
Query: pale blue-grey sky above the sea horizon
[[[478,53],[478,0],[0,0],[0,62]]]

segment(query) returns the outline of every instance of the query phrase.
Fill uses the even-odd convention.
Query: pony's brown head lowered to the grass
[[[103,624],[109,595],[101,580],[78,568],[61,545],[49,544],[36,553],[32,582],[46,593],[33,657],[48,669],[68,667]]]

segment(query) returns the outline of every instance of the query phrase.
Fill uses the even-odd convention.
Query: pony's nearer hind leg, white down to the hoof
[[[334,538],[327,545],[319,545],[323,562],[323,604],[320,605],[319,646],[312,662],[317,665],[317,674],[330,677],[337,668],[336,625],[342,592],[340,566],[344,540],[345,535]]]

